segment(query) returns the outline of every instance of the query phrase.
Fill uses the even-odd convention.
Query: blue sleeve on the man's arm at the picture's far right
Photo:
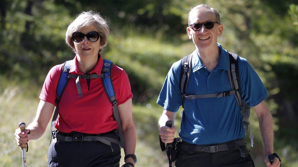
[[[266,99],[268,91],[263,82],[256,71],[243,58],[239,60],[239,75],[242,100],[245,101],[249,107],[254,107]]]

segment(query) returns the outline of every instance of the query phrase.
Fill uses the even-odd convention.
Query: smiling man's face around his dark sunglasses
[[[208,9],[199,9],[198,12],[192,12],[189,16],[190,25],[194,23],[206,23],[207,21],[215,22],[215,14]],[[194,31],[191,26],[187,27],[187,34],[189,39],[194,42],[199,50],[206,50],[217,46],[217,37],[220,37],[223,32],[222,24],[214,24],[212,29],[206,29],[202,25],[201,29]]]

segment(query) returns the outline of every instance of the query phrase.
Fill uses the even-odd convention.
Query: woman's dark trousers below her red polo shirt
[[[115,134],[107,134],[118,140]],[[113,151],[112,151],[113,149]],[[48,166],[102,166],[119,167],[121,150],[117,144],[111,146],[100,141],[72,141],[58,140],[50,144],[48,150]]]

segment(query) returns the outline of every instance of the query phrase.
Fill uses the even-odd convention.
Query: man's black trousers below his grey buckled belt
[[[176,167],[254,167],[253,159],[246,146],[240,147],[245,157],[241,157],[239,150],[218,151],[215,153],[193,152],[180,150]]]

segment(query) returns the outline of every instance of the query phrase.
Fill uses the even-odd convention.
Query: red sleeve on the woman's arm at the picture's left
[[[45,82],[42,86],[42,91],[39,95],[39,99],[52,103],[56,106],[56,87],[59,80],[59,76],[59,66],[56,65],[49,71],[48,75],[46,76]]]

